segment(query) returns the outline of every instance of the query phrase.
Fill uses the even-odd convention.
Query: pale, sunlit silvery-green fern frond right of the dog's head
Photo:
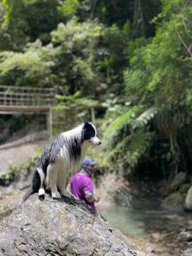
[[[152,107],[144,111],[138,116],[134,122],[132,122],[132,128],[143,127],[148,124],[148,121],[154,118],[154,115],[158,113],[158,108]]]

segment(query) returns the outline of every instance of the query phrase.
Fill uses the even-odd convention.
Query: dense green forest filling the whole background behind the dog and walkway
[[[0,84],[59,86],[58,108],[102,103],[104,169],[192,172],[190,0],[2,0]]]

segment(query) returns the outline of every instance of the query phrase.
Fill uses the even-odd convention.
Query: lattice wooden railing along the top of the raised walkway
[[[0,106],[52,106],[55,105],[54,88],[18,87],[0,85]]]

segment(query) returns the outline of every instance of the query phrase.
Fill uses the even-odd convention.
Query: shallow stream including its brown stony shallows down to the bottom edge
[[[128,209],[98,207],[97,211],[113,227],[140,246],[149,256],[177,256],[180,230],[192,225],[192,214],[181,215],[160,208]]]

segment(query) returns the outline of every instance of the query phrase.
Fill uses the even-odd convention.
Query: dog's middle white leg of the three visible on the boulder
[[[52,198],[61,198],[57,190],[57,175],[58,171],[52,164],[47,167],[47,187],[51,189]]]

